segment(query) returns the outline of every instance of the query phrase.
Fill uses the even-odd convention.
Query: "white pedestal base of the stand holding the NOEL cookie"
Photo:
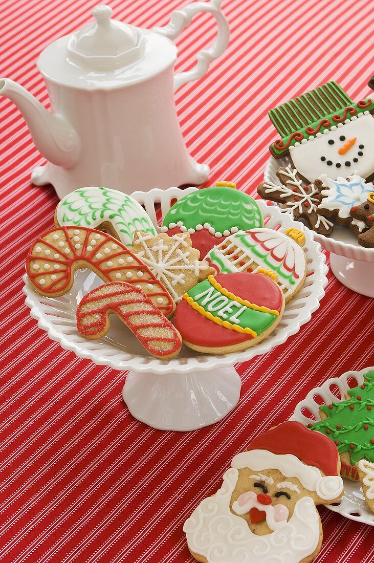
[[[237,404],[241,380],[233,367],[209,372],[129,372],[123,399],[133,417],[158,430],[197,430]]]

